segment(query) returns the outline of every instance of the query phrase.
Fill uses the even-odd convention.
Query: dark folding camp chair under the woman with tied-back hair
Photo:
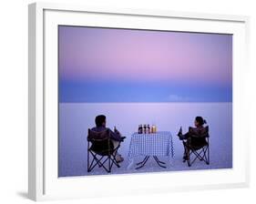
[[[209,127],[207,126],[205,128],[202,128],[200,132],[193,132],[191,130],[192,128],[189,128],[190,134],[187,141],[183,141],[184,148],[189,150],[189,154],[188,152],[185,152],[185,154],[188,155],[188,158],[187,158],[188,166],[190,167],[198,158],[200,160],[203,160],[207,165],[209,165],[210,164]]]

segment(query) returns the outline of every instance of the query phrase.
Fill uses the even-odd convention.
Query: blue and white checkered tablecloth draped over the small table
[[[170,132],[134,133],[130,140],[128,161],[130,162],[138,156],[168,156],[173,158],[174,150]]]

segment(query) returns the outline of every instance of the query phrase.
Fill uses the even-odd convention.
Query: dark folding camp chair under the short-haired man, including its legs
[[[108,173],[111,172],[113,164],[119,168],[120,166],[116,160],[119,147],[120,145],[118,145],[117,148],[114,148],[108,129],[101,132],[88,129],[87,172],[90,172],[96,166],[104,168]],[[90,155],[92,156],[91,162]]]

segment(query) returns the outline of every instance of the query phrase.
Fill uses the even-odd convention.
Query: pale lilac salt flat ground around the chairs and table
[[[61,103],[59,104],[59,177],[107,174],[103,168],[87,173],[87,129],[95,126],[95,117],[107,116],[107,127],[114,126],[126,136],[119,153],[125,158],[121,168],[112,174],[192,169],[232,168],[232,103]],[[194,117],[202,116],[210,126],[210,165],[196,161],[192,167],[182,162],[183,146],[176,136],[193,126]],[[175,158],[168,168],[159,168],[149,158],[138,170],[128,168],[128,148],[132,133],[139,124],[155,124],[161,131],[170,131]],[[135,162],[143,158],[136,158]]]

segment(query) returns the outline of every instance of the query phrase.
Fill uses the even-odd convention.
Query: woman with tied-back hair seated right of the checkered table
[[[191,138],[189,140],[189,138],[191,136],[194,136],[194,135],[200,135],[200,132],[202,132],[204,130],[204,124],[206,124],[206,120],[203,119],[202,117],[196,117],[195,118],[195,121],[194,121],[194,125],[195,125],[195,128],[191,128],[189,127],[189,132],[187,132],[186,134],[182,134],[182,129],[179,128],[179,133],[178,133],[178,136],[179,136],[179,139],[180,140],[183,140],[185,139],[186,141],[183,142],[183,145],[184,145],[184,155],[183,155],[183,159],[184,161],[185,160],[188,160],[189,159],[189,148],[188,148],[188,144],[192,147],[199,147],[199,146],[204,146],[206,144],[206,140],[204,137],[202,138]]]

